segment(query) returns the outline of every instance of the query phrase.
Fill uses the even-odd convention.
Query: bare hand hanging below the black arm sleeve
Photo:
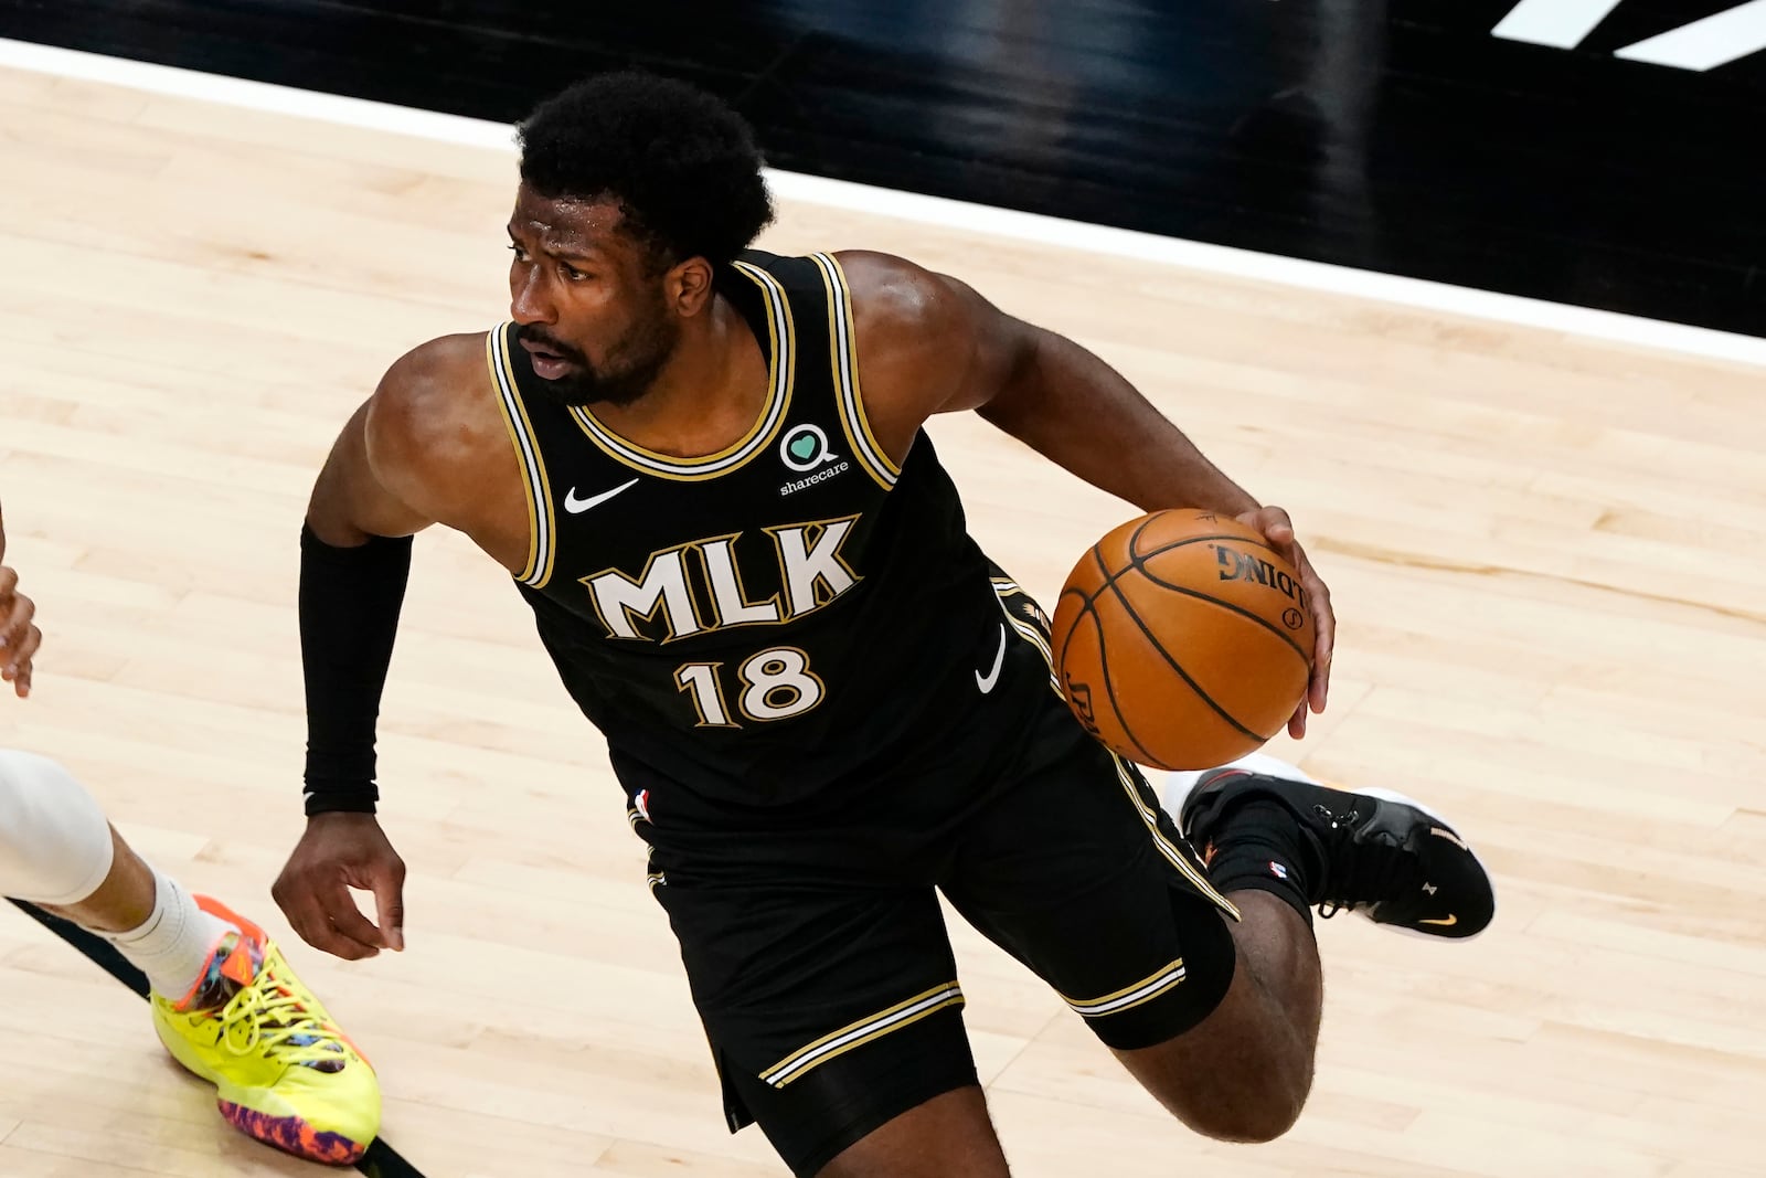
[[[376,925],[350,888],[374,894]],[[313,948],[348,961],[404,948],[404,860],[373,814],[314,814],[270,887],[288,924]]]

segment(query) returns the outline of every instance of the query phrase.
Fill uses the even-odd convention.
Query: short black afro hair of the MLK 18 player
[[[660,267],[728,263],[772,221],[754,132],[705,90],[597,74],[521,124],[521,178],[551,200],[615,200]]]

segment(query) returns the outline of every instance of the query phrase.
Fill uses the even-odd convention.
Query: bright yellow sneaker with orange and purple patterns
[[[219,1090],[221,1116],[313,1162],[348,1166],[380,1132],[380,1081],[263,929],[207,895],[233,925],[178,1001],[154,994],[166,1051]]]

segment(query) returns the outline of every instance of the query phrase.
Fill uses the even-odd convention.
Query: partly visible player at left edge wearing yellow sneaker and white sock
[[[0,676],[30,694],[42,639],[5,563],[0,521]],[[154,1030],[219,1090],[242,1132],[314,1162],[362,1157],[380,1084],[263,931],[191,895],[124,842],[65,768],[0,749],[0,895],[102,936],[152,984]]]

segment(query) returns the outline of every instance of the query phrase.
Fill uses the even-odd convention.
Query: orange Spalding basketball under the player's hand
[[[1312,673],[1312,609],[1268,540],[1231,516],[1130,519],[1074,565],[1054,608],[1074,715],[1153,768],[1211,768],[1279,733]]]

